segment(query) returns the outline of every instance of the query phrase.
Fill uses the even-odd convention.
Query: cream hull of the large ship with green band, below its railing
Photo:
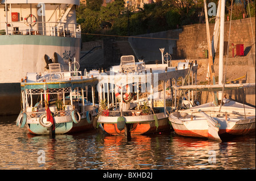
[[[20,80],[27,72],[44,73],[47,58],[54,58],[68,69],[69,58],[80,58],[81,39],[43,35],[0,36],[0,115],[20,111]],[[16,106],[13,106],[16,105]]]

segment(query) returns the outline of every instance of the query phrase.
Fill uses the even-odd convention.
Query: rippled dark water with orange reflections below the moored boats
[[[221,143],[174,132],[129,141],[100,131],[53,139],[27,133],[15,119],[0,117],[0,169],[255,169],[255,134]]]

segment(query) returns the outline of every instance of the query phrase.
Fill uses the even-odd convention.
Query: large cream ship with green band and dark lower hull
[[[5,110],[6,104],[20,99],[16,88],[27,72],[44,73],[49,62],[64,69],[70,60],[79,62],[79,5],[79,0],[0,0],[0,115],[16,113]]]

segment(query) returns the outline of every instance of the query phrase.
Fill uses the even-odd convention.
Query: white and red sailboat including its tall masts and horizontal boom
[[[220,140],[219,136],[225,135],[243,135],[255,132],[255,108],[246,106],[245,104],[225,99],[222,95],[224,90],[245,89],[254,86],[255,83],[241,83],[237,85],[226,85],[223,79],[223,57],[224,57],[224,18],[225,18],[225,2],[220,1],[218,5],[218,14],[216,16],[216,24],[214,27],[212,48],[209,35],[207,4],[204,1],[205,18],[207,22],[207,40],[209,50],[209,70],[210,81],[213,85],[201,86],[174,86],[176,90],[184,91],[214,91],[214,102],[202,104],[189,108],[188,110],[177,111],[171,113],[170,122],[177,134],[190,137],[207,137],[212,138],[213,134],[216,140]],[[220,22],[220,24],[218,24]],[[230,23],[231,25],[231,23]],[[220,48],[219,48],[219,69],[218,69],[218,85],[215,83],[213,60],[214,53],[217,48],[218,33],[220,28]],[[228,54],[226,61],[228,61]],[[218,91],[218,99],[217,92]],[[188,99],[190,101],[190,99]],[[209,122],[216,123],[212,129]],[[208,127],[207,127],[208,125]],[[212,133],[212,134],[210,134]]]

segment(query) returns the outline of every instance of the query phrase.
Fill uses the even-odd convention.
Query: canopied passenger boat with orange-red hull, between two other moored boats
[[[171,131],[166,83],[171,78],[184,78],[190,71],[196,73],[197,65],[185,63],[181,69],[167,64],[145,65],[143,61],[135,62],[133,56],[131,60],[125,56],[125,64],[122,58],[121,65],[113,66],[109,75],[98,76],[97,89],[102,102],[97,123],[113,135]],[[154,107],[154,92],[158,92],[159,82],[163,83],[163,107]]]

